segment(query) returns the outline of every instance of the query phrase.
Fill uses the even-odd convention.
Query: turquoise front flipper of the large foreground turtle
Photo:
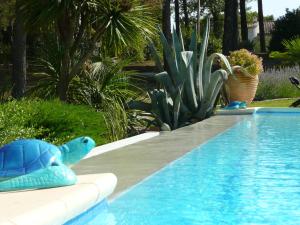
[[[42,189],[73,185],[75,173],[65,165],[51,166],[0,182],[0,191]]]

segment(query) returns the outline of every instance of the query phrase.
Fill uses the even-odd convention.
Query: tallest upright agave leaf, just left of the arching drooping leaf
[[[209,17],[206,19],[206,28],[205,32],[203,35],[203,40],[202,40],[202,45],[200,48],[200,58],[199,58],[199,66],[198,66],[198,74],[196,76],[196,87],[198,91],[198,101],[201,102],[203,99],[203,65],[204,65],[204,60],[205,60],[205,55],[207,51],[207,45],[208,45],[208,38],[209,38],[209,28],[210,28],[210,20]],[[207,74],[208,76],[210,74]]]

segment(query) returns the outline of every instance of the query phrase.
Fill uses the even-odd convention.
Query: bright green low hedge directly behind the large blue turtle
[[[107,142],[102,113],[87,106],[55,101],[22,100],[0,104],[0,145],[19,138],[38,138],[62,144],[90,136],[97,145]]]

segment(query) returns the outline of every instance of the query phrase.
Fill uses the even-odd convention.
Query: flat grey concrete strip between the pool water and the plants
[[[114,173],[118,185],[110,197],[113,199],[246,116],[213,116],[191,126],[162,132],[149,140],[85,159],[73,169],[78,175]]]

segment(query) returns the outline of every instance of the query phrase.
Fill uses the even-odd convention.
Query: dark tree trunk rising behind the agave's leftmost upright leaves
[[[172,35],[171,35],[171,7],[170,7],[170,0],[164,0],[163,7],[162,7],[162,31],[168,41],[168,43],[171,45],[172,43]],[[166,60],[166,56],[164,54],[164,68],[166,71],[169,71],[168,69],[168,63]]]

